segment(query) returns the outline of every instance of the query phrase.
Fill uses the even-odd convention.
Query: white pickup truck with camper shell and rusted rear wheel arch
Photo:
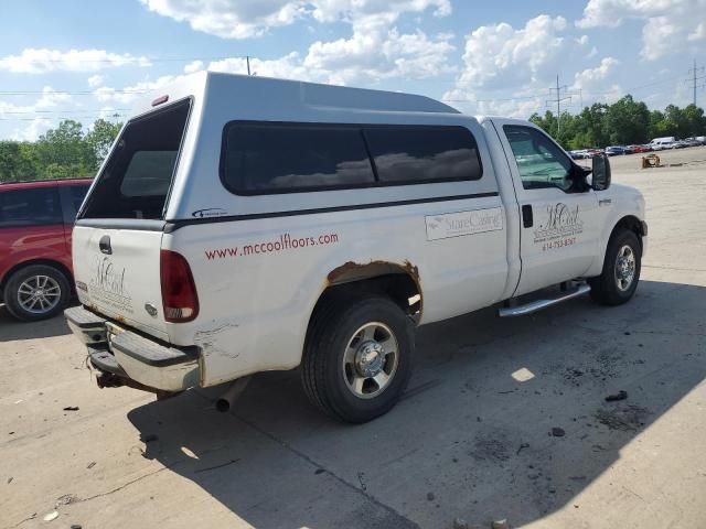
[[[157,96],[73,231],[66,316],[100,387],[239,380],[227,409],[248,375],[301,366],[315,406],[363,422],[403,393],[417,325],[635,291],[641,194],[532,123],[214,73]]]

